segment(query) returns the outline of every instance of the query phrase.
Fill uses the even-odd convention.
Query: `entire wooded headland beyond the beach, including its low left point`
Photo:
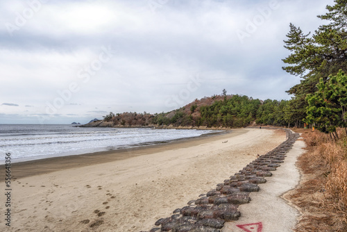
[[[244,127],[254,124],[298,126],[289,101],[253,99],[243,95],[214,95],[196,99],[168,113],[110,113],[90,126],[208,126]]]

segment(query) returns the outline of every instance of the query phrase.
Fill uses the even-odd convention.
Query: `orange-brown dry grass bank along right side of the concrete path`
[[[303,181],[290,199],[302,211],[296,231],[347,231],[347,138],[298,130],[307,152],[298,159]]]

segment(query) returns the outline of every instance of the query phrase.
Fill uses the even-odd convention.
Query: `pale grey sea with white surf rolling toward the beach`
[[[215,133],[209,130],[84,128],[71,125],[0,124],[0,164],[151,145]]]

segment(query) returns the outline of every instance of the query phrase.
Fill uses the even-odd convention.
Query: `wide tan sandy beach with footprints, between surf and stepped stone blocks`
[[[0,231],[149,231],[156,220],[284,140],[280,130],[237,129],[152,147],[13,164],[12,222],[10,228],[2,222]]]

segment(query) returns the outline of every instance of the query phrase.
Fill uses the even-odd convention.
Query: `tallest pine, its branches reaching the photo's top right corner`
[[[318,17],[330,23],[319,26],[312,36],[303,33],[294,24],[289,25],[288,40],[284,42],[291,54],[283,59],[289,66],[282,69],[303,78],[301,83],[287,91],[294,94],[290,103],[292,106],[307,108],[307,94],[317,91],[316,85],[321,78],[326,81],[330,74],[336,75],[339,69],[347,71],[347,0],[335,0],[335,5],[326,9],[328,13]],[[295,117],[295,120],[305,118],[305,111],[298,112]]]

